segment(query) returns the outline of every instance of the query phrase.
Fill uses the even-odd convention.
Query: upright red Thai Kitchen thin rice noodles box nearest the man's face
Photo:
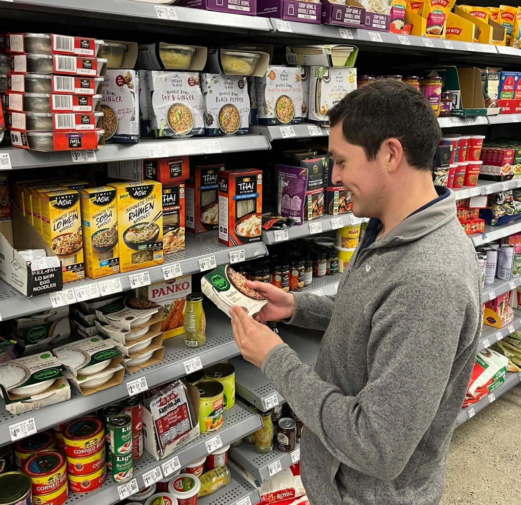
[[[232,247],[261,240],[262,171],[219,172],[219,242]]]

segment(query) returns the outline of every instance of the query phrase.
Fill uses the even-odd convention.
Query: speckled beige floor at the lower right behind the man
[[[455,429],[440,505],[521,503],[520,413],[516,386]]]

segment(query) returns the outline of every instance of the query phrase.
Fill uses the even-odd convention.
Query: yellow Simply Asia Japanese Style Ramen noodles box
[[[118,207],[119,270],[163,263],[162,185],[156,181],[111,182]]]

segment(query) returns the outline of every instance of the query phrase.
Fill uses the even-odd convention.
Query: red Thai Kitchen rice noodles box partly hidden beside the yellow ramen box
[[[163,187],[163,253],[184,251],[184,184]]]

